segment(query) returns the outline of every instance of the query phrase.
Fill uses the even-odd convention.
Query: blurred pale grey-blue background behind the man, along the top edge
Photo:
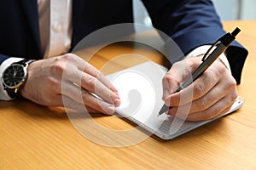
[[[148,12],[140,0],[133,0],[136,23],[151,26]],[[212,0],[221,20],[256,20],[256,0]]]

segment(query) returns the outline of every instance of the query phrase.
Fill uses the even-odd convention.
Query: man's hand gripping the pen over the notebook
[[[201,57],[184,59],[172,65],[163,79],[163,100],[172,106],[167,114],[202,121],[223,115],[237,97],[236,80],[218,59],[189,87],[173,94],[179,84],[201,64]]]

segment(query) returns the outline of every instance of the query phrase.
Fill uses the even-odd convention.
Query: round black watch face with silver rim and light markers
[[[10,65],[3,72],[3,83],[8,88],[17,88],[26,77],[26,70],[22,65]]]

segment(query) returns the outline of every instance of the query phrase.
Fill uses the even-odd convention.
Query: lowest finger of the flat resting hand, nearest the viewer
[[[67,95],[79,104],[87,105],[96,111],[100,111],[108,115],[112,115],[115,112],[115,107],[113,105],[108,104],[102,99],[96,98],[88,91],[74,86],[72,83],[66,83],[63,86],[63,94]]]

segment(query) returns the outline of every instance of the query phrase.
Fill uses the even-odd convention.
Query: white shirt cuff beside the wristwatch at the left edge
[[[5,69],[7,67],[9,67],[9,65],[20,61],[22,58],[15,58],[15,57],[11,57],[9,59],[5,59],[3,61],[3,63],[0,65],[0,99],[1,100],[12,100],[9,95],[7,94],[7,92],[3,89],[3,82],[2,82],[2,77],[3,77],[3,71],[5,71]]]

